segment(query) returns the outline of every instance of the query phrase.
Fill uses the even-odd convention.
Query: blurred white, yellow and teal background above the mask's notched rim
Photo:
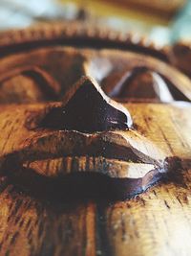
[[[191,41],[191,0],[0,0],[0,30],[82,19],[146,35],[160,46]]]

